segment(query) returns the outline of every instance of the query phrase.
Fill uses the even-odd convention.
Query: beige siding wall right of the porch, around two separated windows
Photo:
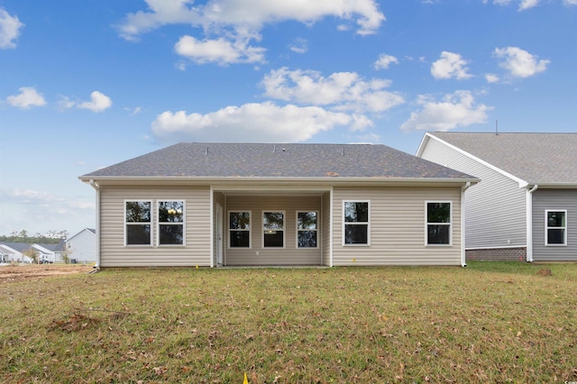
[[[343,201],[370,202],[371,245],[343,245]],[[452,245],[426,246],[426,201],[452,202]],[[461,265],[460,187],[334,187],[334,266]]]

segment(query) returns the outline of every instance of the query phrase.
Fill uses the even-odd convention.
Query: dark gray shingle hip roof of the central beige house
[[[457,178],[453,169],[385,145],[182,142],[80,177]]]

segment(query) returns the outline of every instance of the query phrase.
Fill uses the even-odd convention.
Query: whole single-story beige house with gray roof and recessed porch
[[[180,143],[80,177],[96,267],[464,265],[479,180],[384,145]]]

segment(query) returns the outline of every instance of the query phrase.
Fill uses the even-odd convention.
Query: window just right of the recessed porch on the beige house
[[[369,245],[369,216],[368,201],[343,202],[343,244]]]

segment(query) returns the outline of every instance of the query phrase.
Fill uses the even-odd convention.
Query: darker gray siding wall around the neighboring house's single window
[[[567,211],[567,245],[545,245],[545,210]],[[577,261],[577,189],[537,189],[533,193],[533,260]]]

